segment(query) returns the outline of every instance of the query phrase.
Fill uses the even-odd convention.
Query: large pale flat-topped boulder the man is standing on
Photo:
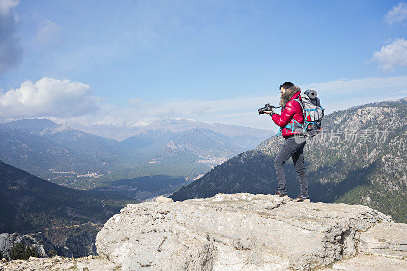
[[[123,271],[309,270],[357,255],[359,246],[371,246],[365,232],[397,225],[391,222],[361,205],[217,194],[128,205],[106,222],[96,247]],[[398,240],[404,240],[406,233],[400,234]],[[398,249],[400,255],[407,250]]]

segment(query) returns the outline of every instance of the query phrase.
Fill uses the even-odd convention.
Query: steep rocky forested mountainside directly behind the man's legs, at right
[[[311,201],[364,204],[407,222],[407,98],[366,104],[324,117],[304,157]],[[174,200],[217,193],[274,194],[274,158],[284,144],[272,137],[217,165],[172,194]],[[285,165],[288,194],[299,194],[292,160]]]

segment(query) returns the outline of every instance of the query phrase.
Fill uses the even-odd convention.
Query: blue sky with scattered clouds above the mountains
[[[0,0],[0,123],[277,130],[285,81],[326,113],[407,96],[407,2]]]

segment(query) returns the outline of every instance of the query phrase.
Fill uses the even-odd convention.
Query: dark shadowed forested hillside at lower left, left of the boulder
[[[103,225],[121,208],[137,202],[117,193],[62,187],[0,161],[2,233]]]

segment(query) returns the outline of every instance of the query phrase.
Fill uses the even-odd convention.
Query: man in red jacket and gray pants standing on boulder
[[[294,199],[294,201],[310,202],[308,195],[308,177],[305,171],[303,153],[306,139],[301,133],[302,128],[294,121],[296,120],[300,124],[304,123],[302,107],[298,101],[294,100],[296,98],[301,100],[301,89],[291,82],[285,82],[280,85],[280,93],[281,115],[274,112],[273,109],[271,109],[271,111],[264,111],[265,114],[270,114],[272,120],[282,128],[281,134],[285,139],[284,145],[274,159],[274,167],[276,168],[278,180],[278,191],[276,195],[280,197],[287,196],[284,163],[289,157],[292,157],[294,167],[300,179],[301,189],[301,195]],[[294,129],[287,127],[292,125],[294,125]]]

